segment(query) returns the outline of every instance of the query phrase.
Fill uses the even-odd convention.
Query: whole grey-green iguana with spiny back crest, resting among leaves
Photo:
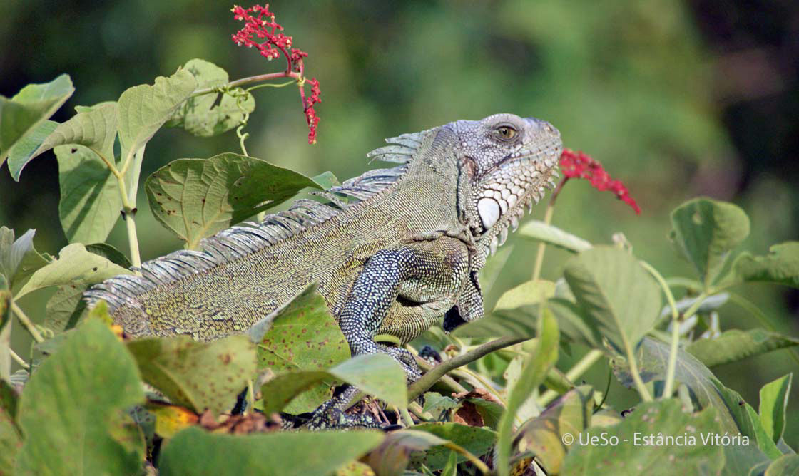
[[[133,337],[217,339],[316,282],[352,355],[392,355],[417,379],[412,356],[374,336],[407,343],[442,316],[447,331],[483,316],[478,271],[552,184],[562,145],[546,121],[512,114],[386,141],[368,157],[400,165],[148,261],[91,288],[89,305],[105,299]]]

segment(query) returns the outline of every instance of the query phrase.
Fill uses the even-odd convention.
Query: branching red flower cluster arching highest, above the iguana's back
[[[244,21],[244,28],[233,35],[233,42],[236,42],[238,46],[247,46],[248,48],[255,46],[260,54],[270,61],[280,57],[280,54],[286,58],[287,67],[284,73],[272,73],[264,75],[264,77],[268,76],[268,79],[292,77],[297,81],[305,119],[308,121],[308,143],[316,143],[316,125],[319,124],[319,117],[316,116],[316,109],[313,108],[313,105],[322,100],[320,99],[319,81],[316,81],[316,78],[308,80],[311,85],[311,97],[305,97],[303,59],[308,57],[308,54],[303,50],[292,48],[292,37],[279,33],[280,30],[283,30],[283,26],[275,22],[275,14],[269,11],[268,3],[264,6],[256,5],[249,8],[236,5],[233,6],[232,11],[233,18]],[[256,40],[264,40],[264,42]]]

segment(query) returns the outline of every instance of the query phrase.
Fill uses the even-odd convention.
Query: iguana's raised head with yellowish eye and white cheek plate
[[[493,253],[551,184],[562,150],[558,129],[547,121],[495,114],[449,125],[459,159],[471,177],[467,218],[479,248]]]

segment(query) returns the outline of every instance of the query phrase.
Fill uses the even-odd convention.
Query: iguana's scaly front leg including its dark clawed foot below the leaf
[[[410,352],[376,343],[374,337],[380,331],[390,331],[407,342],[430,327],[433,320],[427,311],[401,312],[392,315],[396,322],[384,322],[398,298],[420,306],[435,303],[444,309],[463,302],[467,307],[475,306],[475,285],[471,282],[469,265],[467,245],[442,234],[382,250],[369,258],[339,314],[339,326],[352,355],[391,355],[403,367],[409,382],[418,379],[421,373]],[[479,288],[476,290],[479,292]],[[482,314],[482,298],[479,305]],[[347,386],[336,398],[317,408],[304,426],[309,429],[380,426],[369,415],[344,413],[356,393],[355,387]]]

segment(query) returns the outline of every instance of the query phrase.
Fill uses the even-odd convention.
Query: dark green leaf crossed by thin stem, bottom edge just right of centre
[[[447,442],[453,442],[479,458],[483,456],[483,454],[486,454],[488,450],[491,450],[497,438],[497,434],[493,430],[451,422],[421,423],[414,426],[413,430],[425,432],[439,438],[439,442],[435,445],[431,444],[431,447],[427,449],[425,453],[416,454],[414,458],[412,458],[415,461],[423,462],[425,466],[434,471],[441,470],[444,466],[447,466],[447,460],[451,450],[449,448],[432,446],[440,446]],[[430,443],[435,442],[435,440],[428,441]],[[463,454],[458,454],[457,462],[461,463],[464,461],[466,461],[466,457],[464,457]]]

